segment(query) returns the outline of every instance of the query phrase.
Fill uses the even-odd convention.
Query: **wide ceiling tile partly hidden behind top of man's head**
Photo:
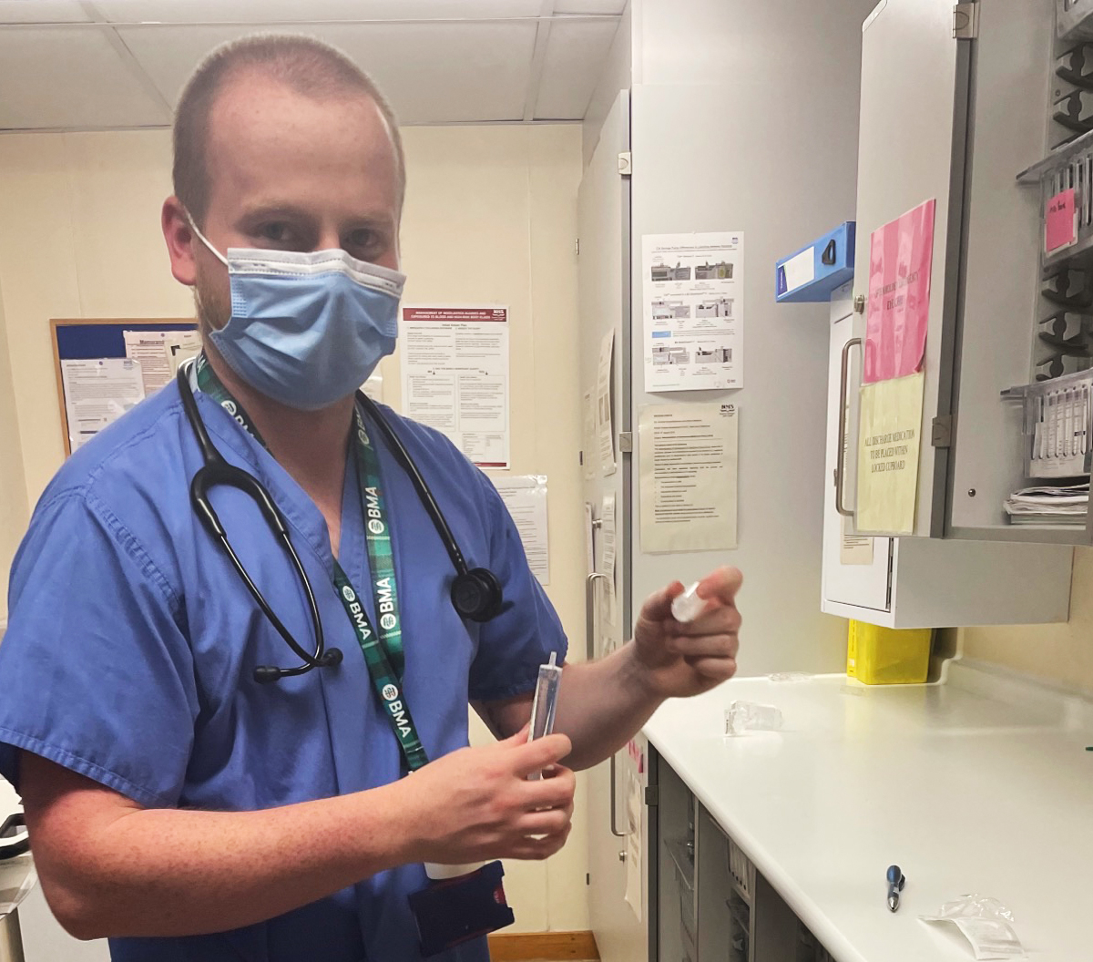
[[[118,28],[169,103],[209,50],[248,32],[228,26]],[[306,33],[341,47],[373,74],[403,124],[522,117],[533,23],[331,24]]]

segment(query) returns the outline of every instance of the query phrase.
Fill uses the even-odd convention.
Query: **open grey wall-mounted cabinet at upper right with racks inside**
[[[1093,543],[1085,517],[1007,513],[1021,489],[1089,476],[1037,477],[1038,429],[1003,396],[1093,364],[1093,150],[1076,141],[1093,131],[1093,46],[1072,25],[1088,2],[1058,0],[1057,23],[1048,2],[885,0],[865,24],[856,295],[868,297],[871,233],[936,200],[916,536]],[[1069,188],[1079,236],[1048,254],[1047,201]],[[865,336],[865,313],[853,329]],[[1084,454],[1093,392],[1060,398],[1068,431],[1084,419],[1060,450]]]

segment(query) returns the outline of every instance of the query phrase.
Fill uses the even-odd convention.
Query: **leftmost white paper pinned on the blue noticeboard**
[[[144,399],[140,364],[129,357],[61,361],[61,386],[73,451]]]

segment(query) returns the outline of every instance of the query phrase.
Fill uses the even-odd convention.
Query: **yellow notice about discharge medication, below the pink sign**
[[[909,535],[915,529],[922,377],[918,372],[861,386],[859,531]]]

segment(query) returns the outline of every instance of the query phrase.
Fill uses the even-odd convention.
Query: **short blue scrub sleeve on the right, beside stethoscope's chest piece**
[[[501,579],[505,608],[482,625],[479,649],[471,665],[470,696],[493,702],[530,692],[539,666],[557,654],[565,660],[565,632],[539,579],[531,573],[520,535],[508,508],[489,479],[490,570]]]

